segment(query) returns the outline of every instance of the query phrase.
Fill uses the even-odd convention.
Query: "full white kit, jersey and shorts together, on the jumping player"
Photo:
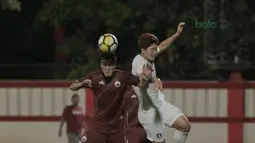
[[[132,74],[139,76],[142,73],[142,68],[144,64],[149,62],[142,57],[137,55],[132,63]],[[156,78],[156,70],[154,63],[149,63],[153,67],[154,71],[151,73],[152,78]],[[141,91],[140,88],[133,86],[133,89],[138,96],[139,101],[141,101]],[[138,110],[138,119],[139,122],[143,125],[143,128],[146,132],[147,138],[152,142],[163,142],[166,138],[165,136],[165,126],[172,127],[174,122],[180,117],[183,116],[183,113],[176,108],[174,105],[166,102],[164,100],[165,95],[155,88],[155,84],[151,83],[147,89],[147,93],[152,99],[153,103],[158,108],[162,120],[161,122],[155,122],[155,113],[153,108],[149,110],[143,110],[141,108],[141,102]]]

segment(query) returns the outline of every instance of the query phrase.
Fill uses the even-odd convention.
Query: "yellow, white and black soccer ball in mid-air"
[[[99,38],[98,47],[104,53],[113,53],[118,47],[118,39],[113,34],[106,33]]]

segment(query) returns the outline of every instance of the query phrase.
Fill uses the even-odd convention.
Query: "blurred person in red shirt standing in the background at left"
[[[85,129],[84,116],[83,110],[79,106],[79,95],[74,94],[71,100],[72,105],[66,106],[63,110],[58,135],[62,136],[62,128],[66,122],[68,143],[78,143],[82,129]]]

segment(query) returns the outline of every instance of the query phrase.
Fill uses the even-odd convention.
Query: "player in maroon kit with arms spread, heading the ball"
[[[114,54],[104,54],[100,61],[101,71],[92,72],[70,86],[71,90],[90,88],[95,96],[95,115],[90,119],[89,128],[80,140],[81,143],[109,142],[111,136],[122,129],[126,88],[135,85],[145,89],[150,81],[148,75],[152,72],[152,67],[144,66],[141,76],[136,77],[129,72],[116,70],[116,61]],[[111,141],[113,142],[121,143],[125,140],[116,138]]]

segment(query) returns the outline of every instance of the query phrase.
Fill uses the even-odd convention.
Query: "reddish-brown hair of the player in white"
[[[159,40],[154,34],[144,33],[138,38],[138,46],[140,49],[147,49],[152,44],[158,45]]]

